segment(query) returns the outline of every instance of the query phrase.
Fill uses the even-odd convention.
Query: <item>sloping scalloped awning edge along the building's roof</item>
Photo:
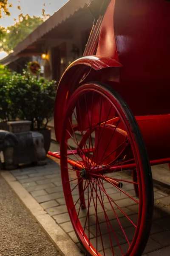
[[[19,55],[27,47],[34,44],[38,39],[42,38],[49,31],[57,27],[63,21],[74,15],[79,9],[84,8],[91,0],[69,0],[61,9],[59,9],[53,16],[46,20],[42,25],[35,29],[26,39],[24,39],[14,49],[14,55]]]

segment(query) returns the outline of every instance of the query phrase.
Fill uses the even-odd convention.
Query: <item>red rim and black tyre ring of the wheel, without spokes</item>
[[[91,83],[91,84],[85,84],[79,87],[71,96],[71,99],[68,103],[67,111],[65,113],[63,129],[62,129],[62,141],[61,141],[61,172],[62,172],[62,184],[64,188],[65,200],[68,207],[68,212],[69,212],[74,230],[77,233],[79,240],[85,246],[86,250],[88,250],[88,252],[91,255],[96,255],[96,253],[98,253],[97,255],[103,255],[103,254],[100,254],[99,252],[96,252],[96,248],[92,244],[89,244],[89,238],[88,236],[86,236],[85,230],[83,230],[82,224],[80,223],[79,218],[77,217],[77,209],[74,207],[74,201],[71,195],[72,190],[69,182],[68,156],[67,156],[68,144],[65,143],[67,141],[66,131],[68,127],[68,119],[73,114],[73,109],[77,104],[77,101],[82,97],[82,95],[85,95],[91,92],[98,93],[99,96],[102,96],[105,99],[107,99],[109,104],[111,104],[111,106],[115,108],[116,113],[119,113],[119,118],[121,118],[122,123],[126,128],[128,140],[130,142],[130,146],[133,151],[133,157],[135,160],[136,170],[138,174],[138,187],[139,187],[139,198],[140,198],[139,212],[138,212],[138,221],[136,225],[136,231],[135,231],[133,240],[127,252],[122,255],[139,256],[139,255],[142,255],[142,251],[144,249],[147,238],[149,236],[150,220],[152,216],[153,191],[152,191],[152,177],[151,177],[150,165],[148,163],[147,154],[145,151],[144,143],[143,143],[139,128],[137,126],[137,123],[133,115],[130,113],[127,105],[115,91],[101,84]],[[84,159],[83,161],[85,162],[85,160],[86,159]],[[77,161],[79,162],[79,160]],[[81,183],[81,179],[77,178],[77,180],[78,180],[78,183]],[[88,179],[86,180],[86,185],[90,186],[90,181]],[[94,184],[92,188],[93,189],[95,188]],[[147,195],[149,191],[150,191],[150,196]],[[150,207],[150,209],[148,207]],[[103,251],[104,251],[104,248],[103,248]]]

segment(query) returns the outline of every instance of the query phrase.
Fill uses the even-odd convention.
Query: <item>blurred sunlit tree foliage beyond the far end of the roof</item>
[[[48,15],[46,15],[48,16]],[[19,21],[7,28],[0,28],[0,51],[11,53],[34,29],[40,26],[45,18],[19,15]]]

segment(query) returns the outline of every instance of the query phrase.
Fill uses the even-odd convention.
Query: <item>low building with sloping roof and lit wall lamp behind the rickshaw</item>
[[[21,73],[26,62],[38,60],[41,75],[58,82],[68,65],[84,52],[94,21],[89,3],[90,0],[68,1],[28,35],[2,64]]]

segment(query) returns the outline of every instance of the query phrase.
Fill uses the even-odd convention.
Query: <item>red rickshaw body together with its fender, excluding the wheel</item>
[[[71,94],[83,83],[98,81],[113,87],[129,105],[150,160],[170,156],[169,14],[170,2],[166,0],[111,0],[102,21],[96,56],[74,61],[59,82],[54,119],[58,141]],[[88,119],[85,102],[81,103],[85,128]],[[94,119],[99,115],[97,104],[96,99]],[[88,113],[90,106],[89,98]],[[103,109],[104,120],[108,106]]]

